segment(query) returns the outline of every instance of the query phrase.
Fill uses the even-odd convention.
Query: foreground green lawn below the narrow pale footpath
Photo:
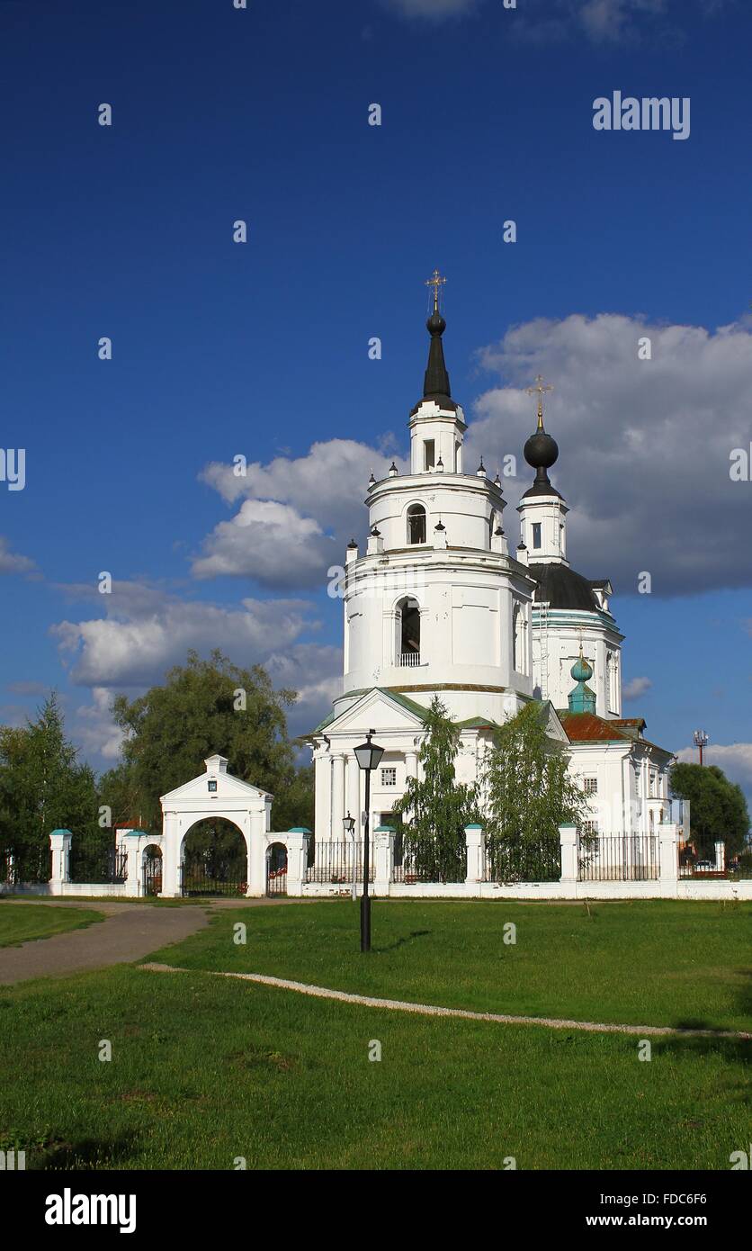
[[[739,1045],[653,1041],[647,1063],[637,1042],[118,967],[0,992],[0,1147],[30,1168],[728,1168]]]

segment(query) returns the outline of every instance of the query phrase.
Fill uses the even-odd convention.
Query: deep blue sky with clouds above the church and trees
[[[4,444],[26,449],[24,490],[0,482],[0,717],[55,686],[106,767],[111,696],[218,646],[315,723],[327,567],[407,450],[438,265],[473,454],[519,455],[523,388],[556,387],[572,564],[612,577],[644,679],[624,711],[677,752],[703,726],[752,792],[752,484],[728,470],[752,440],[751,34],[732,0],[0,3]],[[614,90],[689,98],[689,138],[597,133]],[[508,533],[527,484],[521,462]]]

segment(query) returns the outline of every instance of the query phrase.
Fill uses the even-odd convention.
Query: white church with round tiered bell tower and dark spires
[[[622,716],[623,636],[607,578],[576,573],[567,555],[568,507],[548,470],[558,447],[544,429],[524,445],[534,478],[518,507],[519,542],[504,532],[497,474],[468,465],[468,429],[452,399],[438,274],[423,397],[409,414],[410,472],[373,473],[365,495],[368,539],[348,544],[344,677],[330,714],[309,737],[315,763],[317,846],[343,839],[363,811],[354,756],[369,729],[384,748],[372,778],[370,829],[417,776],[424,717],[434,696],[460,729],[459,782],[475,781],[494,729],[528,701],[564,743],[571,772],[589,797],[589,833],[657,832],[668,821],[672,753],[646,738],[642,718]]]

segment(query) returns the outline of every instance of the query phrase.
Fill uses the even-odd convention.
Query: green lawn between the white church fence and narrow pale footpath
[[[358,934],[352,901],[233,908],[154,958],[477,1011],[752,1028],[749,903],[375,901],[369,956]]]

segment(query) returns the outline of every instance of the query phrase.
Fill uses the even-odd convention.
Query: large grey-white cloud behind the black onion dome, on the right
[[[639,317],[578,314],[511,329],[479,355],[503,385],[479,398],[470,459],[490,472],[518,457],[506,494],[517,503],[533,472],[521,452],[534,424],[526,385],[553,382],[546,424],[559,444],[551,472],[571,505],[568,555],[619,594],[642,572],[656,595],[749,585],[752,483],[732,482],[731,453],[749,449],[752,322],[723,327],[651,325]],[[638,339],[652,340],[639,360]],[[507,530],[513,533],[513,510]],[[516,520],[516,519],[514,519]]]

